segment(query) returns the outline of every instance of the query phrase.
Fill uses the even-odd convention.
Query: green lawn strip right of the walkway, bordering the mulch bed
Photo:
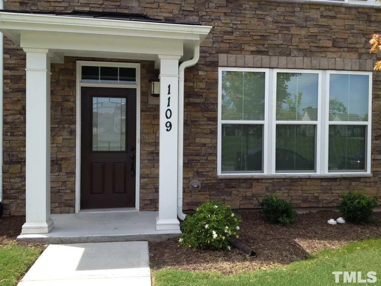
[[[377,273],[376,283],[335,283],[333,271],[361,271]],[[154,286],[329,286],[329,285],[381,285],[381,239],[348,244],[336,250],[325,250],[311,258],[271,270],[245,272],[239,275],[222,275],[211,272],[186,272],[181,270],[154,271]]]

